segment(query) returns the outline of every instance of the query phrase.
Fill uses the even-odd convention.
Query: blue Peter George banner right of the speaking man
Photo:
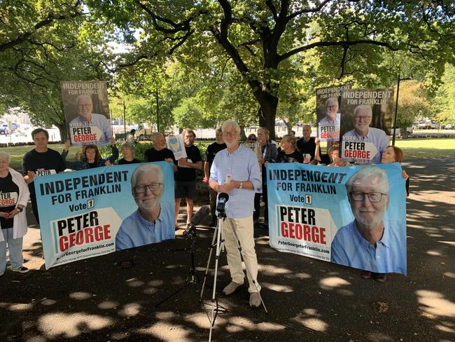
[[[376,273],[406,274],[406,191],[398,163],[267,165],[269,244]]]

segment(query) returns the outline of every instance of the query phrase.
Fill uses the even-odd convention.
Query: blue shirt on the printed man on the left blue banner
[[[174,238],[174,204],[162,203],[155,223],[144,219],[139,209],[123,220],[116,235],[116,251]]]

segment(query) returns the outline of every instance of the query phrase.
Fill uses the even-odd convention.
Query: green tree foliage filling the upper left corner
[[[60,81],[106,78],[106,33],[94,25],[80,0],[0,1],[3,107],[22,107],[65,139]]]

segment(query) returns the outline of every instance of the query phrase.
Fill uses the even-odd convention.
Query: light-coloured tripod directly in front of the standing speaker
[[[209,273],[209,265],[210,265],[210,261],[211,261],[211,254],[213,252],[214,247],[216,247],[215,269],[214,269],[214,287],[213,287],[212,298],[211,298],[211,315],[209,317],[209,320],[210,320],[209,342],[211,341],[211,334],[212,334],[212,330],[213,330],[214,325],[215,325],[216,317],[218,316],[218,313],[221,312],[220,308],[225,310],[225,311],[223,311],[223,313],[226,312],[226,309],[219,305],[218,297],[216,296],[216,278],[217,278],[217,275],[218,275],[218,260],[220,259],[221,249],[224,249],[224,241],[225,241],[224,240],[224,223],[225,223],[224,221],[225,221],[225,219],[226,219],[226,214],[225,214],[224,210],[222,212],[220,212],[220,210],[218,210],[218,226],[217,226],[217,228],[216,228],[216,230],[214,232],[214,238],[212,239],[212,244],[211,244],[210,252],[209,252],[209,259],[207,261],[207,267],[205,269],[204,281],[202,283],[202,290],[201,290],[201,300],[202,300],[202,296],[204,295],[204,286],[205,286],[205,282],[207,280],[207,274]],[[230,228],[231,228],[232,233],[233,233],[233,235],[235,237],[235,240],[237,241],[237,249],[240,252],[241,259],[243,261],[245,261],[243,252],[241,251],[240,240],[239,240],[238,235],[237,235],[237,233],[235,231],[235,228],[233,226],[231,226]],[[215,237],[216,237],[216,244],[214,245]],[[248,265],[245,262],[244,262],[244,264],[245,264],[245,268],[246,268],[247,278],[252,280],[253,285],[254,285],[254,287],[256,289],[256,292],[258,292],[258,295],[259,295],[259,298],[260,298],[260,302],[262,303],[262,306],[264,307],[265,312],[268,313],[267,308],[265,307],[264,301],[262,301],[262,297],[260,296],[260,292],[258,291],[257,283],[256,283],[255,279],[252,277],[251,271],[248,269]]]

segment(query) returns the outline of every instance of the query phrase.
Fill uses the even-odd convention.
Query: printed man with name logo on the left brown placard
[[[92,113],[92,97],[79,95],[76,104],[78,116],[69,123],[73,145],[108,144],[112,139],[111,124],[106,116]]]

